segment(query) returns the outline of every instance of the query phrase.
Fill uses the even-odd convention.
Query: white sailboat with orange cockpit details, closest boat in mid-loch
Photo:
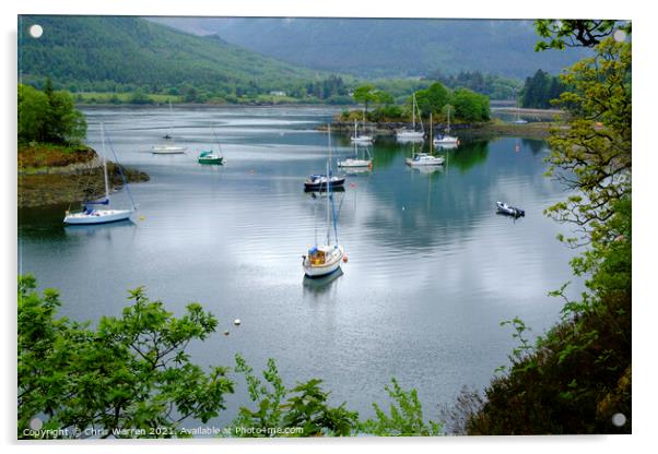
[[[327,175],[329,175],[329,163],[327,159]],[[333,243],[331,242],[331,230],[333,227]],[[327,192],[327,242],[318,244],[317,235],[315,246],[308,249],[307,255],[302,255],[304,274],[308,277],[327,276],[340,268],[341,261],[345,260],[343,247],[338,243],[338,228],[336,226],[336,207],[331,186]]]

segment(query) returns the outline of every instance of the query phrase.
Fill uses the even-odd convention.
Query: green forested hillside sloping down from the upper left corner
[[[22,15],[19,26],[21,80],[50,77],[72,91],[144,89],[165,93],[181,86],[214,94],[236,87],[285,89],[312,80],[316,71],[263,57],[216,36],[183,33],[139,17]],[[44,28],[32,38],[32,24]],[[192,89],[190,88],[190,89]]]

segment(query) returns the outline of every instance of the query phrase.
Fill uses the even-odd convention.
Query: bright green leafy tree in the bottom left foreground
[[[27,429],[35,417],[71,438],[90,428],[105,430],[103,438],[173,437],[186,418],[208,421],[225,408],[234,390],[226,368],[205,372],[186,351],[218,325],[199,304],[175,318],[139,287],[120,318],[91,328],[56,319],[57,291],[35,288],[32,276],[19,277],[20,438],[34,437]]]

